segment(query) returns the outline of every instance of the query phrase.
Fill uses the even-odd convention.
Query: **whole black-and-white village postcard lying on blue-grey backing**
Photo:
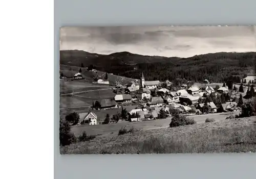
[[[256,151],[256,27],[60,28],[60,154]]]

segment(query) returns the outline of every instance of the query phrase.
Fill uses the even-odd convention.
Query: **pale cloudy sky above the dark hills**
[[[60,50],[67,49],[181,58],[217,52],[256,52],[256,27],[65,27],[60,29]]]

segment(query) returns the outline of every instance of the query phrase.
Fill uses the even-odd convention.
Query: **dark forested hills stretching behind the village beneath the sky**
[[[82,50],[60,51],[60,64],[93,66],[93,68],[139,79],[143,71],[145,80],[174,80],[185,78],[195,82],[208,79],[223,82],[229,76],[235,81],[255,71],[256,52],[215,53],[190,58],[142,56],[129,52],[110,55],[91,54]]]

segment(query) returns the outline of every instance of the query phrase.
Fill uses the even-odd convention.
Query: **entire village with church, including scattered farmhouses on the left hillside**
[[[91,71],[97,72],[95,69]],[[109,74],[111,75],[111,74]],[[80,72],[75,73],[75,80],[82,80]],[[92,84],[110,85],[114,97],[93,100],[88,112],[79,113],[76,125],[98,125],[120,122],[143,122],[148,120],[171,118],[170,111],[177,109],[182,115],[207,115],[222,112],[241,111],[241,100],[246,92],[247,83],[232,84],[232,88],[223,83],[212,86],[207,79],[202,83],[179,84],[166,80],[145,81],[143,72],[140,80],[121,85],[115,81],[110,85],[108,73],[98,76]],[[255,83],[255,78],[249,84]],[[237,87],[236,87],[237,86]],[[250,86],[247,87],[250,90]],[[175,90],[178,89],[178,90]],[[247,89],[247,90],[248,90]],[[253,88],[254,89],[254,88]],[[113,111],[120,109],[116,114]],[[74,112],[76,110],[74,109]],[[104,111],[104,116],[97,116],[97,111]],[[112,115],[110,115],[112,114]],[[205,116],[205,118],[207,118]]]

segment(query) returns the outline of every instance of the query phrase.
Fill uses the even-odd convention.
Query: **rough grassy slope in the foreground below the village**
[[[60,148],[61,154],[256,152],[255,117],[227,119],[115,136]]]

